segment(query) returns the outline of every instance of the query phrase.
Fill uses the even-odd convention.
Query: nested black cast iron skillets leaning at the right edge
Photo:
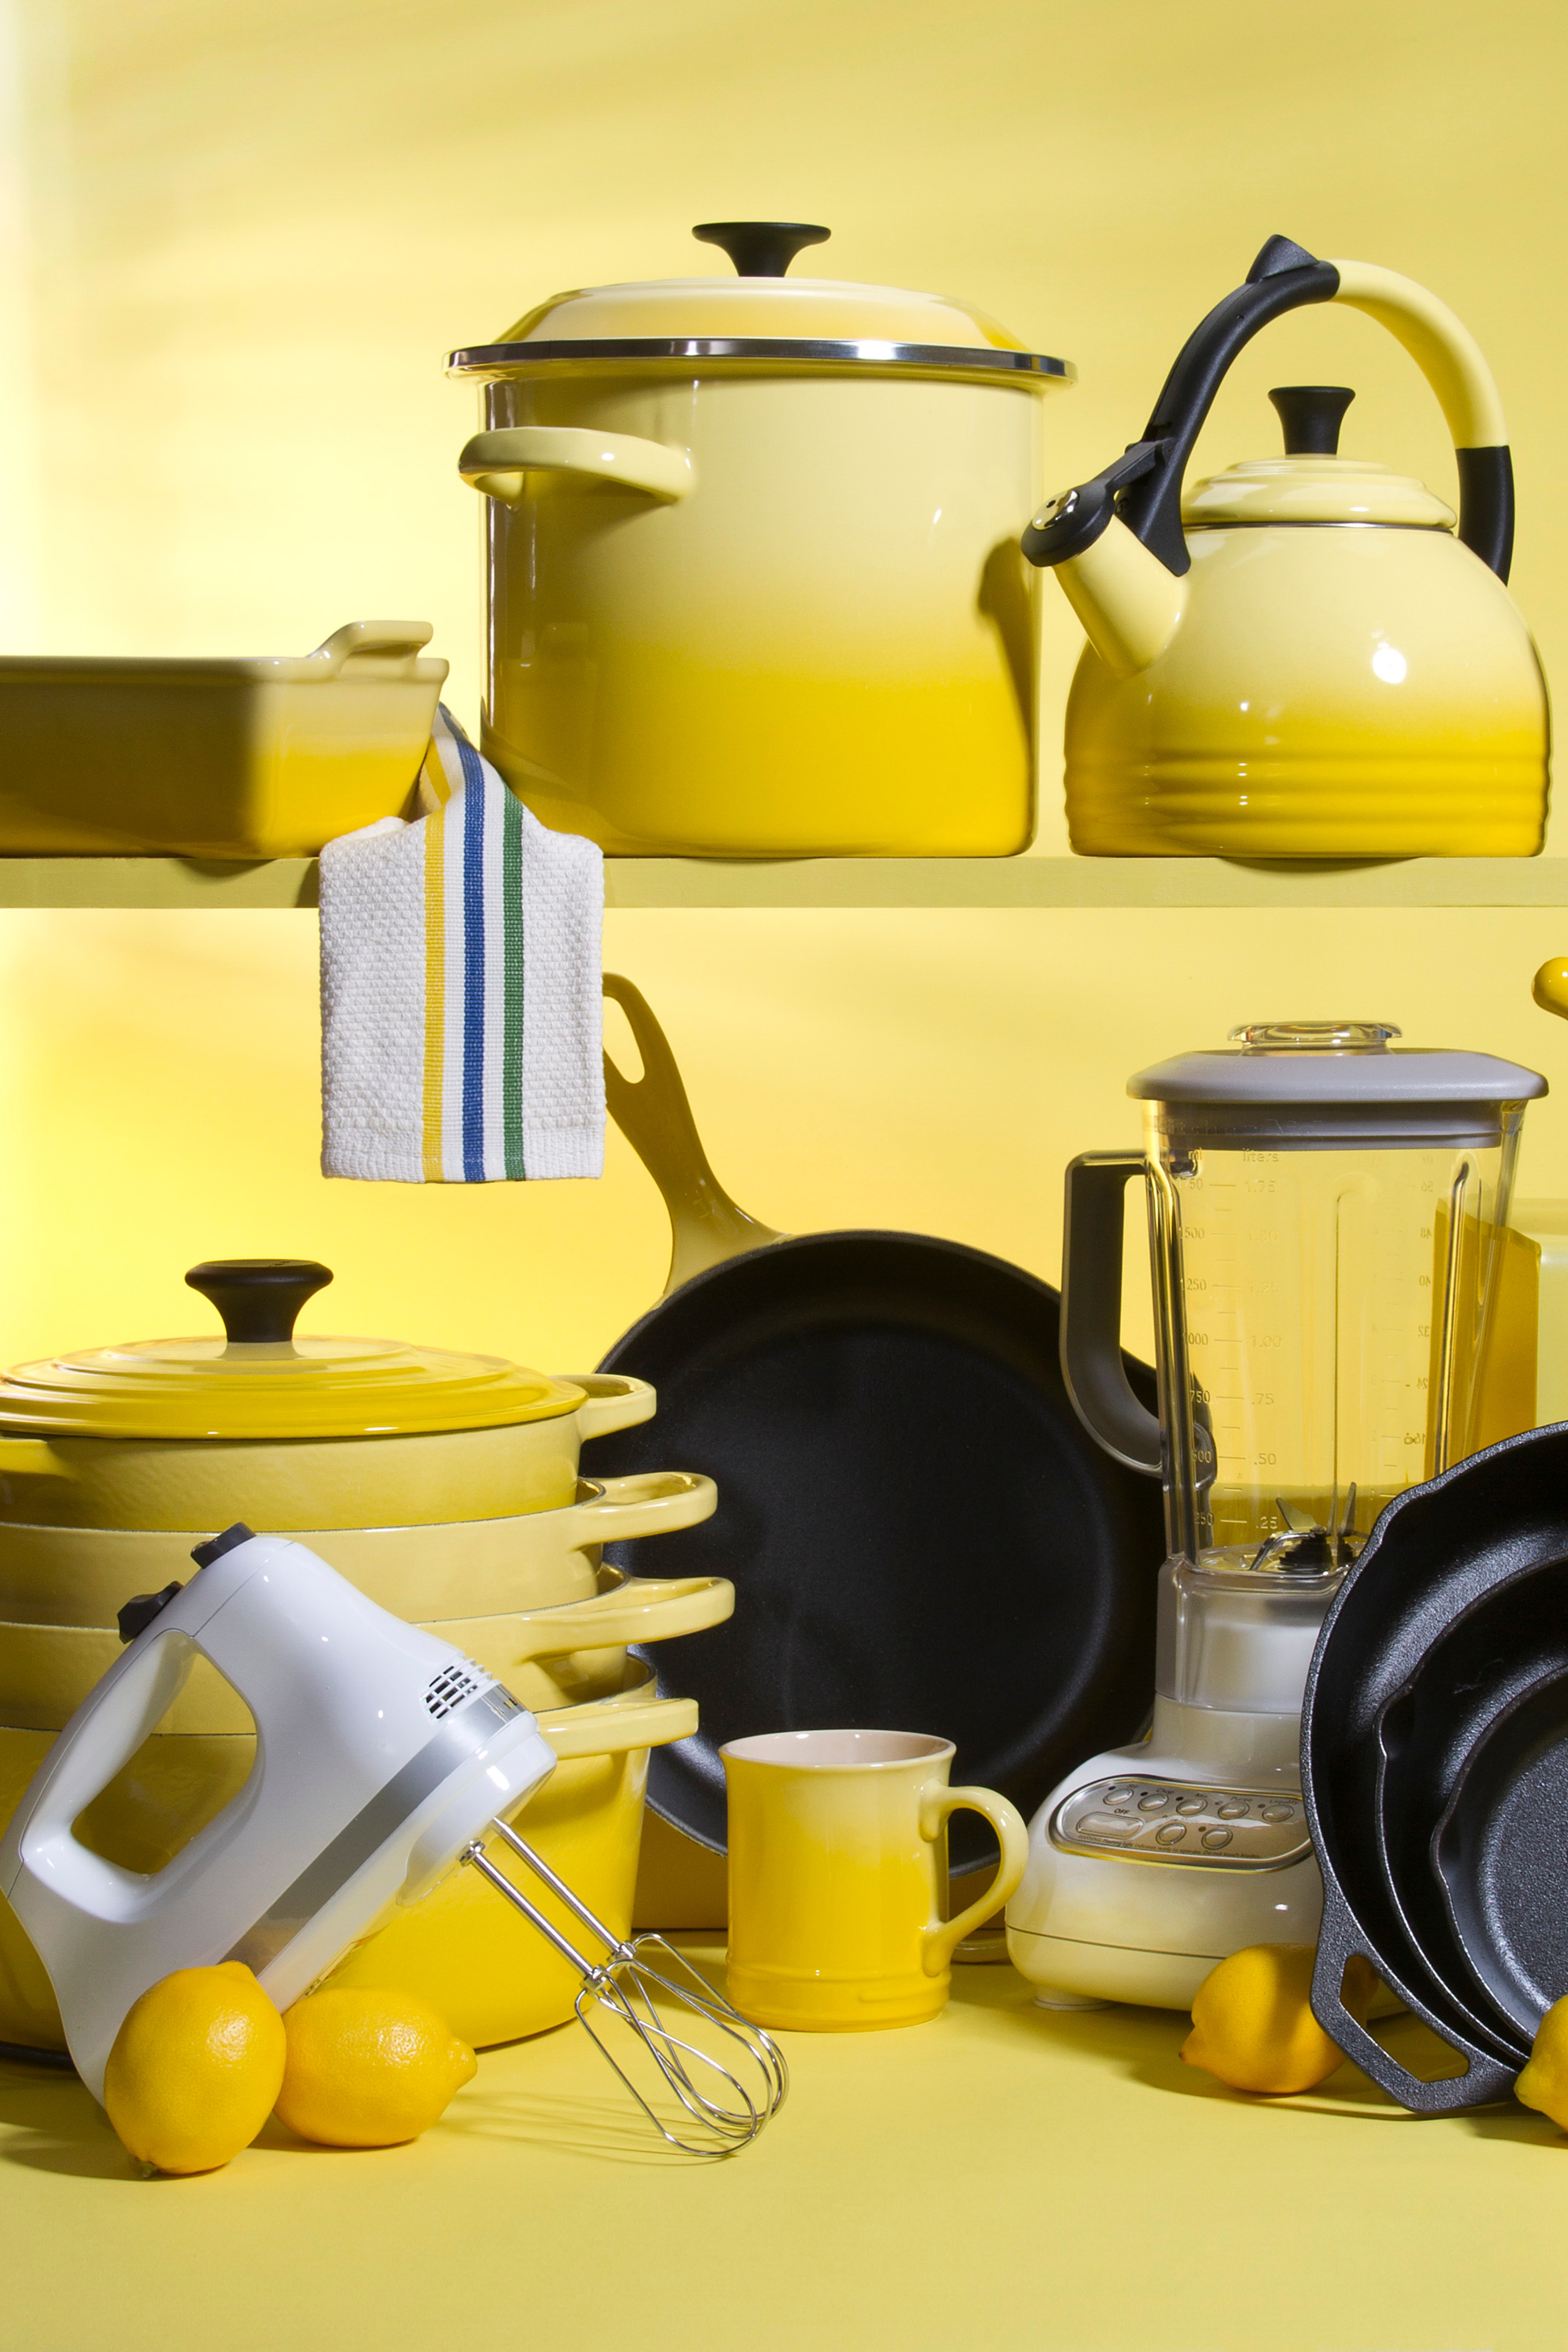
[[[1568,1677],[1552,1623],[1566,1562],[1568,1425],[1507,1437],[1385,1510],[1307,1675],[1302,1795],[1324,1872],[1312,2006],[1418,2112],[1505,2098],[1544,1997],[1568,1990],[1568,1931],[1547,1924],[1542,1900],[1554,1886],[1568,1912],[1554,1816],[1568,1804]],[[1448,1646],[1462,1621],[1476,1628],[1469,1661]],[[1427,1722],[1425,1795],[1389,1792],[1385,1816],[1385,1738],[1399,1755],[1443,1705],[1467,1722],[1448,1745]],[[1432,1886],[1408,1900],[1422,1870]],[[1403,1919],[1392,1886],[1406,1889]],[[1354,1952],[1460,2051],[1465,2074],[1418,2082],[1349,2016],[1340,1983]]]

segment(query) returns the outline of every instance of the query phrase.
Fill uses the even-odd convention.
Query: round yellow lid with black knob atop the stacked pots
[[[331,1282],[310,1258],[209,1258],[186,1275],[223,1336],[150,1338],[19,1364],[0,1428],[40,1437],[407,1437],[576,1411],[583,1390],[498,1355],[294,1336]]]

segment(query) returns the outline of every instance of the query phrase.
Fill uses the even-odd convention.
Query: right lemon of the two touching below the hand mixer
[[[277,2114],[301,2140],[393,2147],[444,2114],[480,2060],[411,1992],[341,1985],[284,2013],[289,2058]]]

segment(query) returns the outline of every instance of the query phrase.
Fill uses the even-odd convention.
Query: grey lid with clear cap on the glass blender
[[[1175,1054],[1126,1082],[1135,1103],[1528,1103],[1540,1070],[1495,1054],[1389,1051],[1385,1021],[1255,1021],[1239,1044]]]

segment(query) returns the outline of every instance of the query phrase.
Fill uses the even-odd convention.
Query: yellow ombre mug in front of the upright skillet
[[[952,1740],[922,1731],[766,1731],[719,1755],[736,2009],[818,2032],[938,2016],[954,1945],[1023,1879],[1023,1816],[990,1788],[947,1788]],[[947,1816],[964,1806],[990,1820],[1001,1867],[943,1919]]]

